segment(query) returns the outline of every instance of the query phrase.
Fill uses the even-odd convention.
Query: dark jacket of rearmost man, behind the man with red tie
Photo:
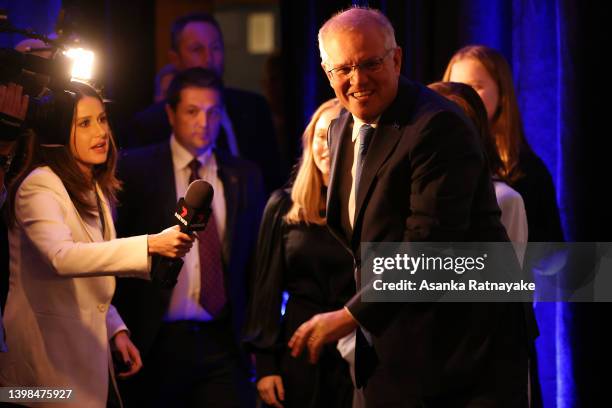
[[[223,98],[240,155],[259,166],[267,191],[280,187],[287,179],[287,166],[280,155],[268,103],[261,95],[233,88],[225,88]],[[136,114],[121,132],[123,147],[142,147],[168,140],[172,129],[165,104],[155,103]],[[221,129],[217,145],[227,150],[225,138]]]

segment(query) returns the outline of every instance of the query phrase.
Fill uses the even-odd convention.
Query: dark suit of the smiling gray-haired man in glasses
[[[329,130],[327,223],[353,253],[358,281],[362,242],[508,240],[468,119],[404,78],[369,145],[351,229],[352,122],[344,112]],[[378,364],[363,341],[356,354],[368,406],[452,407],[476,399],[489,403],[483,406],[523,404],[527,330],[521,304],[365,303],[357,294],[347,306],[373,334]],[[371,364],[362,364],[366,357]],[[500,401],[508,405],[496,405]]]

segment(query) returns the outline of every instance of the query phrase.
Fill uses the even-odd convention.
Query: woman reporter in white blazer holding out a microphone
[[[120,184],[102,97],[84,83],[69,90],[74,108],[55,112],[69,118],[58,127],[62,140],[42,143],[53,126],[38,129],[9,189],[8,351],[0,354],[0,386],[69,388],[74,399],[65,406],[102,408],[107,400],[120,404],[111,347],[126,366],[120,377],[142,366],[110,304],[115,276],[149,279],[151,255],[181,257],[194,238],[169,228],[115,239],[111,205]]]

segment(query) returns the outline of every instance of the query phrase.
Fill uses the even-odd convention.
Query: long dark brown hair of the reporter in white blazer
[[[86,96],[97,98],[103,103],[102,96],[91,86],[82,82],[71,82],[70,91],[74,92],[75,100],[72,108],[71,126],[67,127],[73,132],[76,108],[78,102]],[[40,130],[39,130],[40,132]],[[106,198],[114,205],[117,201],[117,191],[121,183],[115,177],[117,165],[117,146],[112,132],[108,135],[108,155],[102,164],[93,166],[92,179],[88,179],[79,168],[77,161],[70,151],[70,143],[74,143],[71,134],[66,135],[63,145],[45,145],[40,143],[39,135],[29,132],[27,136],[26,159],[22,169],[9,187],[9,225],[15,221],[15,196],[23,180],[37,167],[49,166],[51,170],[62,180],[68,195],[79,214],[92,215],[98,210],[97,203],[89,198],[89,193],[94,190],[97,183]]]

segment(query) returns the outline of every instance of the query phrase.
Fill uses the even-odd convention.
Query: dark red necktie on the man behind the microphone
[[[189,162],[191,169],[189,183],[199,178],[200,166],[198,159]],[[221,262],[221,241],[214,213],[210,214],[204,231],[198,231],[198,252],[200,254],[200,305],[212,317],[216,317],[227,303],[227,297]]]

